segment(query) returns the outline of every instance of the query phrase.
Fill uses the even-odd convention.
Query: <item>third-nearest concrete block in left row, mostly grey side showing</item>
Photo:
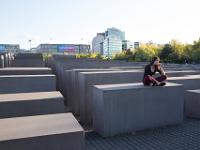
[[[55,75],[0,76],[0,94],[56,91]]]

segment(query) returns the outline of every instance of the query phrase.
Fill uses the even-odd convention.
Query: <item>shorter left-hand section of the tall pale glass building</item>
[[[105,39],[105,33],[97,33],[92,40],[92,52],[103,55],[103,42]]]

